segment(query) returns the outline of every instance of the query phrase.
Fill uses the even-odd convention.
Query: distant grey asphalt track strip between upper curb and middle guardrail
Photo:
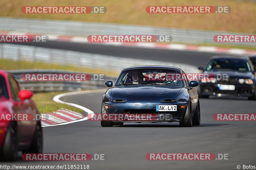
[[[211,56],[219,55],[204,52],[178,51],[167,49],[149,49],[136,47],[108,46],[83,44],[74,42],[24,42],[13,43],[22,45],[32,45],[37,47],[55,48],[71,51],[79,51],[85,53],[112,55],[117,57],[129,57],[144,60],[157,60],[174,63],[190,64],[194,66],[204,66]]]

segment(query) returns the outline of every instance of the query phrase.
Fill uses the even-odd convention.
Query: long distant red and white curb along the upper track
[[[10,35],[35,35],[35,33],[25,32],[7,32],[0,31],[0,34]],[[39,35],[39,34],[37,34]],[[221,48],[213,46],[196,46],[196,45],[185,45],[175,43],[154,43],[154,42],[89,42],[87,37],[80,36],[67,36],[67,35],[47,35],[49,41],[65,41],[65,42],[76,42],[86,44],[101,44],[110,46],[125,46],[125,47],[136,47],[136,48],[154,48],[154,49],[166,49],[166,50],[180,50],[180,51],[195,51],[195,52],[208,52],[208,53],[222,53],[230,55],[256,55],[255,50],[246,50],[240,48]]]

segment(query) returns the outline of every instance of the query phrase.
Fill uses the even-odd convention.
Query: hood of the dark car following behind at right
[[[251,78],[252,77],[252,72],[242,72],[242,71],[204,71],[204,74],[209,74],[211,77],[211,74],[216,76],[227,74],[229,77],[228,78]],[[221,77],[223,78],[223,76]]]

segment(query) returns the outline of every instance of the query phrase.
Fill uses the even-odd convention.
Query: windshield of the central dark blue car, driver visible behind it
[[[176,75],[176,76],[175,76]],[[131,69],[121,72],[117,85],[178,85],[183,86],[182,75],[174,69]]]

